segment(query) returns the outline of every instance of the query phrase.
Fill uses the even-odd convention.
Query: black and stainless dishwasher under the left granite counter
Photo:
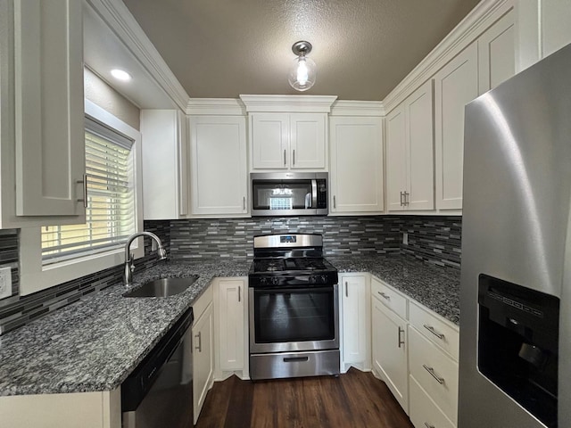
[[[123,428],[193,426],[193,309],[121,383]]]

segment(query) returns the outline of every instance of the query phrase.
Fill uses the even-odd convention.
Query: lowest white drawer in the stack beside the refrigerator
[[[455,428],[414,377],[410,376],[410,421],[418,428]]]

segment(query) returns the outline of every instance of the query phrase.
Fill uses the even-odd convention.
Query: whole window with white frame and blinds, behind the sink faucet
[[[86,122],[85,143],[87,204],[91,210],[87,210],[87,219],[91,220],[91,228],[22,227],[22,296],[124,263],[120,241],[143,230],[141,135],[95,103],[85,100],[85,108],[86,118],[92,119]],[[105,202],[105,208],[100,202]],[[131,246],[136,258],[144,255],[141,243],[143,240],[138,240]]]

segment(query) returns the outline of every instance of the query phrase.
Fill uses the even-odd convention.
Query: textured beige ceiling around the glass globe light
[[[383,100],[478,0],[123,0],[186,92]],[[307,40],[315,86],[287,83]]]

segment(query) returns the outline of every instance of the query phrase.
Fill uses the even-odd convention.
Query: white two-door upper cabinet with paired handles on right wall
[[[433,82],[386,118],[388,210],[434,209]]]

